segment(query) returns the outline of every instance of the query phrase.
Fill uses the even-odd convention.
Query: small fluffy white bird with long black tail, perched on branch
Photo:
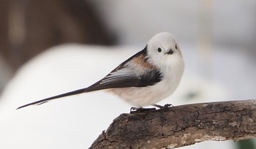
[[[155,34],[146,47],[119,64],[102,80],[87,88],[62,93],[17,108],[44,104],[64,96],[92,91],[107,91],[132,106],[162,107],[157,102],[176,91],[184,73],[184,58],[176,38],[169,32]]]

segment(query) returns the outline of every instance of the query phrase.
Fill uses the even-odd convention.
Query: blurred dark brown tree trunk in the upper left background
[[[0,54],[13,69],[53,45],[113,44],[84,0],[0,0],[0,8]]]

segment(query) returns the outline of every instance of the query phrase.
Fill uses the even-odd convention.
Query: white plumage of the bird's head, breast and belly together
[[[116,94],[121,99],[137,107],[156,104],[173,94],[184,72],[184,60],[181,55],[181,50],[172,34],[156,34],[148,42],[147,47],[148,55],[146,57],[148,58],[148,63],[160,69],[160,72],[163,74],[162,80],[155,85],[148,85],[143,88],[129,87],[109,89],[110,93]],[[161,47],[165,52],[159,53],[157,51],[158,47]],[[172,55],[166,55],[165,53],[170,49],[175,50],[174,53]],[[134,68],[136,66],[131,67]]]

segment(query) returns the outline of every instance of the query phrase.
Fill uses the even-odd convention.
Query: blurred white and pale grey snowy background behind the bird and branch
[[[89,148],[113,118],[129,112],[129,104],[99,91],[15,109],[91,85],[160,31],[176,36],[186,70],[176,93],[159,104],[255,99],[255,1],[90,3],[118,45],[52,47],[21,66],[12,78],[7,65],[0,63],[1,82],[9,80],[0,96],[0,148]],[[206,147],[236,145],[201,142],[184,148]]]

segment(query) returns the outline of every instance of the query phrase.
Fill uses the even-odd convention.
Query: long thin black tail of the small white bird
[[[17,110],[20,109],[20,108],[23,108],[23,107],[28,107],[28,106],[30,106],[30,105],[34,105],[34,104],[37,104],[37,105],[39,105],[39,104],[44,104],[45,102],[49,102],[50,100],[53,100],[53,99],[59,99],[59,98],[64,97],[64,96],[71,96],[71,95],[75,95],[75,94],[78,94],[78,93],[84,93],[84,92],[86,92],[86,88],[82,88],[82,89],[76,90],[76,91],[70,91],[70,92],[68,92],[68,93],[62,93],[62,94],[57,95],[57,96],[51,96],[51,97],[49,97],[49,98],[47,98],[47,99],[39,100],[39,101],[37,101],[37,102],[32,102],[32,103],[30,103],[30,104],[25,104],[25,105],[23,105],[23,106],[18,107]]]

